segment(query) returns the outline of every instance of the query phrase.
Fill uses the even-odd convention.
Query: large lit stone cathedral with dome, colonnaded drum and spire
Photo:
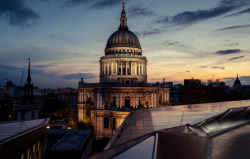
[[[138,37],[129,30],[122,7],[120,26],[108,39],[100,62],[100,82],[78,86],[78,121],[85,121],[84,107],[93,104],[91,113],[96,139],[111,137],[123,120],[136,108],[169,104],[169,86],[147,83],[147,58],[142,55]]]

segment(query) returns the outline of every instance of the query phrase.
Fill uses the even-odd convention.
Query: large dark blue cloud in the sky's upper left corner
[[[0,0],[0,16],[13,26],[32,26],[40,18],[25,0]]]

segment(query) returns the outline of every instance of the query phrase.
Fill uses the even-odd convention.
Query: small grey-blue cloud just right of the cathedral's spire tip
[[[154,11],[149,10],[147,7],[142,7],[141,5],[129,7],[128,13],[131,17],[152,17],[157,15]]]

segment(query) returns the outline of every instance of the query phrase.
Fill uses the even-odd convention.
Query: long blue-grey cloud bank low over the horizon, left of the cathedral
[[[95,79],[96,75],[92,73],[76,73],[76,74],[66,74],[58,75],[55,73],[48,73],[47,70],[49,65],[31,65],[31,79],[34,85],[39,87],[76,87],[76,80],[80,80],[81,77],[84,79]],[[0,65],[0,80],[6,78],[13,81],[14,84],[21,84],[22,72],[23,82],[25,83],[27,78],[28,66],[10,66],[10,65]]]

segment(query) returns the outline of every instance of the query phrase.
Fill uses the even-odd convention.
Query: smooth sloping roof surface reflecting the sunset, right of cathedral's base
[[[228,108],[243,106],[250,106],[250,100],[137,109],[128,115],[106,148],[150,132],[185,125]]]

